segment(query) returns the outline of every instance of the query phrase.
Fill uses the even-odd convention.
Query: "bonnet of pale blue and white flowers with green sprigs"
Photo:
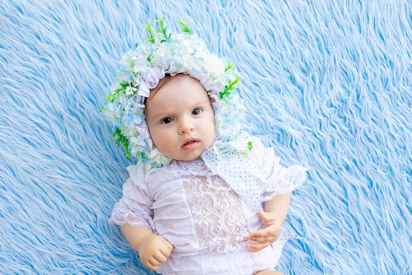
[[[215,113],[214,144],[229,142],[238,135],[244,112],[243,100],[235,90],[240,79],[230,61],[211,54],[187,23],[179,21],[183,33],[168,33],[164,18],[155,20],[159,25],[155,31],[152,23],[143,25],[150,36],[122,55],[111,94],[100,109],[115,128],[113,140],[118,146],[123,143],[126,157],[135,157],[151,168],[173,161],[153,144],[144,115],[144,101],[150,96],[150,89],[165,74],[189,74],[206,89]]]

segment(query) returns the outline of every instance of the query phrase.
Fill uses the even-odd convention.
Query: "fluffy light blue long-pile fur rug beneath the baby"
[[[412,274],[409,1],[1,1],[1,274],[150,274],[109,225],[131,159],[100,116],[163,15],[240,71],[293,192],[284,274]]]

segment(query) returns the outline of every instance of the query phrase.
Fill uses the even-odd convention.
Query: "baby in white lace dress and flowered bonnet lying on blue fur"
[[[240,131],[243,107],[231,88],[238,76],[219,85],[224,78],[210,78],[201,58],[214,56],[192,30],[181,23],[186,34],[173,39],[158,22],[163,36],[128,53],[103,108],[118,141],[137,155],[110,222],[159,274],[279,274],[292,234],[284,226],[290,193],[308,168],[282,167],[273,148]],[[146,67],[138,60],[145,53]],[[187,65],[187,53],[198,60]]]

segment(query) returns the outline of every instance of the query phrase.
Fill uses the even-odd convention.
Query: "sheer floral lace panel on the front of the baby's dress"
[[[183,176],[183,188],[203,252],[242,249],[249,230],[236,192],[216,175]]]

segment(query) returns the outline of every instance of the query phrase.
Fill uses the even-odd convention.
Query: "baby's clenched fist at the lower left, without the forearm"
[[[144,236],[139,245],[140,261],[150,270],[157,270],[160,263],[165,263],[166,258],[173,251],[173,245],[163,236],[148,234]]]

